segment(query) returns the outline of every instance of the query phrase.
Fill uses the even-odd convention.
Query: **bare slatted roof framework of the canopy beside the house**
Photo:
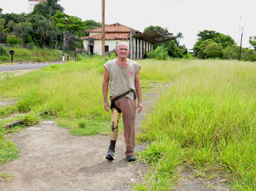
[[[169,33],[166,28],[164,28],[163,30],[152,30],[141,34],[136,34],[134,37],[152,44],[176,39],[176,36],[173,36],[173,33]]]

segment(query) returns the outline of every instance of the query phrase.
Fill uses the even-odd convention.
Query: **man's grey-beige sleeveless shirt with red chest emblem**
[[[141,67],[137,62],[129,59],[129,64],[122,68],[116,59],[113,59],[103,66],[108,70],[110,96],[120,96],[129,90],[135,89],[135,76]],[[134,93],[129,93],[127,97],[133,99]]]

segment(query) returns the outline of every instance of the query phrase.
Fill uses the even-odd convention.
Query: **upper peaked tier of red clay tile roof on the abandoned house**
[[[115,24],[109,24],[105,26],[105,32],[130,32],[130,30],[135,30],[133,28],[130,28],[128,26],[124,26],[120,23],[115,23]],[[102,27],[97,27],[97,28],[93,28],[93,29],[88,29],[85,30],[86,32],[101,32],[102,31]],[[138,30],[135,30],[136,32],[141,33]]]

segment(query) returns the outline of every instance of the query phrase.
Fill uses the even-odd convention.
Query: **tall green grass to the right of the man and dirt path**
[[[142,159],[147,162],[149,155],[178,144],[180,163],[220,166],[232,175],[234,190],[256,190],[255,63],[193,60],[187,66],[173,76],[139,136],[157,145],[165,140],[165,148],[149,147],[140,154]],[[153,167],[163,158],[152,161]],[[154,170],[151,177],[156,171],[162,173]]]

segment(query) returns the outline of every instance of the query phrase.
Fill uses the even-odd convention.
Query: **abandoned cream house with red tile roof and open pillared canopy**
[[[89,36],[81,37],[84,50],[89,54],[102,55],[102,27],[86,30]],[[105,26],[105,54],[114,52],[119,42],[126,42],[130,46],[131,59],[143,59],[146,52],[153,50],[153,45],[176,39],[173,33],[166,29],[142,33],[119,23]]]

